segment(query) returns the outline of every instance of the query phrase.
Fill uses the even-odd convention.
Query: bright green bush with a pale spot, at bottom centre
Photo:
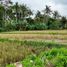
[[[41,58],[31,55],[22,61],[24,67],[44,67],[44,64]]]

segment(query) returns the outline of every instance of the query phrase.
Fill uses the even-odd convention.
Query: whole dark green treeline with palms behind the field
[[[34,15],[25,4],[13,4],[10,0],[3,4],[0,0],[0,31],[47,29],[67,29],[66,17],[47,5]]]

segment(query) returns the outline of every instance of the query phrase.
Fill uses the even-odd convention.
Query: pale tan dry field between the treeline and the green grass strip
[[[66,30],[46,30],[46,31],[13,31],[0,33],[0,38],[16,40],[47,40],[67,43]]]

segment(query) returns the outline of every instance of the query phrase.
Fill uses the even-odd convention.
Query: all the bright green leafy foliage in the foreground
[[[67,49],[52,48],[40,53],[38,56],[32,54],[21,61],[24,67],[66,67],[67,66]],[[14,67],[7,65],[6,67]]]

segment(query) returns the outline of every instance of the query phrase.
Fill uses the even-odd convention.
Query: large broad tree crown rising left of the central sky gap
[[[26,17],[30,17],[30,15],[33,14],[31,9],[29,9],[25,4],[19,5],[18,2],[12,6],[12,12],[16,17],[16,22],[18,20],[23,20]]]

